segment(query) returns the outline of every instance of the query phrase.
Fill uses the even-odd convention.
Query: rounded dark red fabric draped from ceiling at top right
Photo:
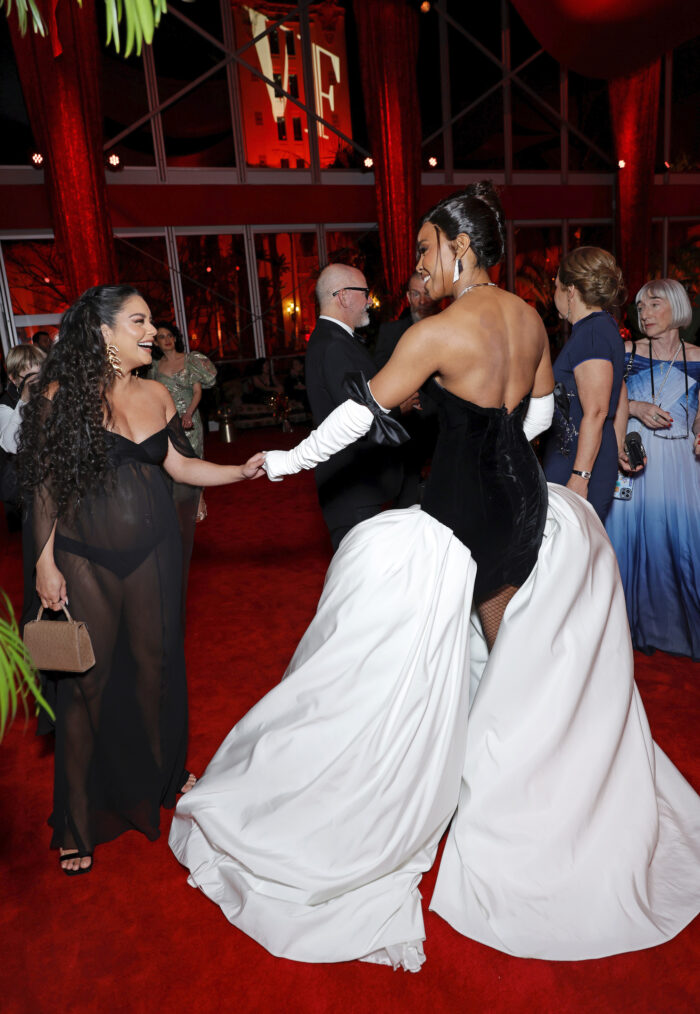
[[[540,45],[586,77],[645,67],[698,32],[697,0],[512,0]]]

